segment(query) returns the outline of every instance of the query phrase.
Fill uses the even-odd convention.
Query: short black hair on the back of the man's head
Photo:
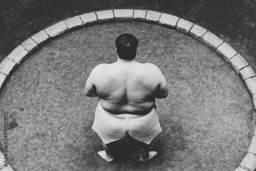
[[[121,34],[116,39],[117,54],[120,59],[132,60],[136,56],[138,39],[132,34]]]

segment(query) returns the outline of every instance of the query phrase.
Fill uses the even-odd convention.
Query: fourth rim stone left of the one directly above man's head
[[[63,33],[65,33],[68,30],[68,26],[66,25],[65,22],[61,21],[51,27],[48,27],[45,29],[46,33],[52,37],[58,37],[61,36]]]

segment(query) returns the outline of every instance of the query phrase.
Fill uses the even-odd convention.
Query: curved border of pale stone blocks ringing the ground
[[[110,22],[147,22],[175,29],[181,33],[189,35],[217,52],[231,68],[240,75],[245,86],[252,97],[253,109],[256,110],[256,74],[248,65],[246,60],[226,42],[221,40],[215,34],[208,30],[188,22],[174,15],[161,13],[151,10],[133,10],[133,9],[116,9],[103,10],[97,12],[77,15],[66,20],[61,20],[37,34],[33,35],[21,45],[17,46],[4,60],[0,63],[0,93],[3,90],[8,78],[14,70],[37,48],[46,45],[51,39],[61,36],[68,31],[73,31],[82,27],[91,26],[100,23]],[[250,146],[242,162],[234,171],[253,171],[256,169],[256,131],[255,127]],[[14,171],[8,164],[4,166],[4,155],[0,151],[0,170]]]

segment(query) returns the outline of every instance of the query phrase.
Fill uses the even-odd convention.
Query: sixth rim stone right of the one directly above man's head
[[[207,32],[203,35],[201,41],[209,48],[216,51],[216,49],[223,43],[223,41],[211,32]]]

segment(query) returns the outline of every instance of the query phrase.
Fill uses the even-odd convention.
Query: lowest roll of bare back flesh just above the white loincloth
[[[108,111],[111,114],[118,115],[118,114],[132,114],[132,115],[146,115],[148,114],[154,107],[156,107],[155,102],[151,102],[149,104],[143,104],[143,106],[133,107],[131,105],[117,105],[111,104],[103,99],[99,100],[102,108],[105,111]]]

